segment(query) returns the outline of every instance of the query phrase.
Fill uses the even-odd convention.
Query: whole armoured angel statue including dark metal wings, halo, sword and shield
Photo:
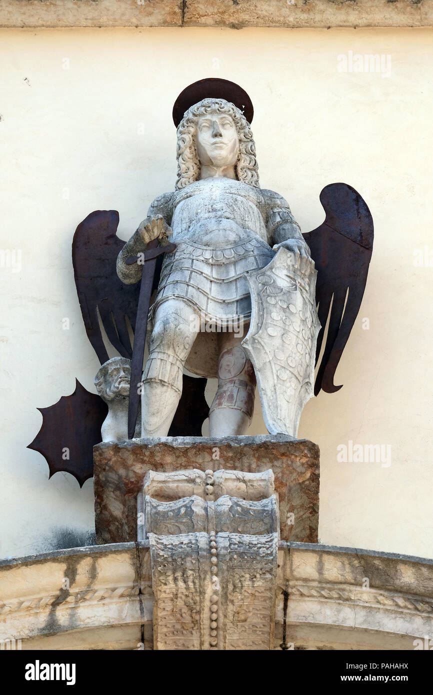
[[[200,388],[188,418],[197,411],[201,433],[210,377],[218,378],[211,436],[247,430],[256,384],[270,434],[291,436],[313,393],[341,388],[334,373],[366,286],[373,220],[357,191],[333,183],[320,194],[325,222],[302,234],[286,199],[259,186],[252,115],[234,83],[190,85],[173,110],[175,190],[152,202],[126,244],[116,236],[114,211],[92,213],[76,230],[74,272],[88,337],[105,363],[102,323],[120,355],[132,358],[129,437],[139,398],[141,436],[172,433],[193,382]],[[184,368],[205,378],[188,379]],[[177,431],[191,433],[191,425]]]

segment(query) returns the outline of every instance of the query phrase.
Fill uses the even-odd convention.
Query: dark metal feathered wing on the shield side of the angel
[[[327,393],[341,389],[334,385],[334,375],[361,306],[374,236],[368,206],[352,186],[331,183],[320,193],[320,202],[325,209],[325,222],[304,234],[318,272],[316,302],[322,327],[318,334],[316,363],[329,316],[315,395],[320,389]]]

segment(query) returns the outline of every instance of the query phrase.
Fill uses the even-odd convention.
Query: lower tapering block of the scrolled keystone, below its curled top
[[[154,649],[273,647],[277,534],[149,534]]]

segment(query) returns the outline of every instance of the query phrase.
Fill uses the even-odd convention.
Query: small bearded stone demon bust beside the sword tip
[[[131,360],[113,357],[104,362],[95,376],[95,386],[108,405],[108,415],[101,427],[102,441],[128,439],[128,400]],[[140,423],[136,436],[140,436]]]

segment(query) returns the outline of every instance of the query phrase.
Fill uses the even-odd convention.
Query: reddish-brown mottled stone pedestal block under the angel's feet
[[[137,496],[148,471],[198,469],[259,473],[271,469],[279,496],[281,539],[317,543],[319,449],[286,435],[161,437],[95,446],[98,543],[137,539]]]

